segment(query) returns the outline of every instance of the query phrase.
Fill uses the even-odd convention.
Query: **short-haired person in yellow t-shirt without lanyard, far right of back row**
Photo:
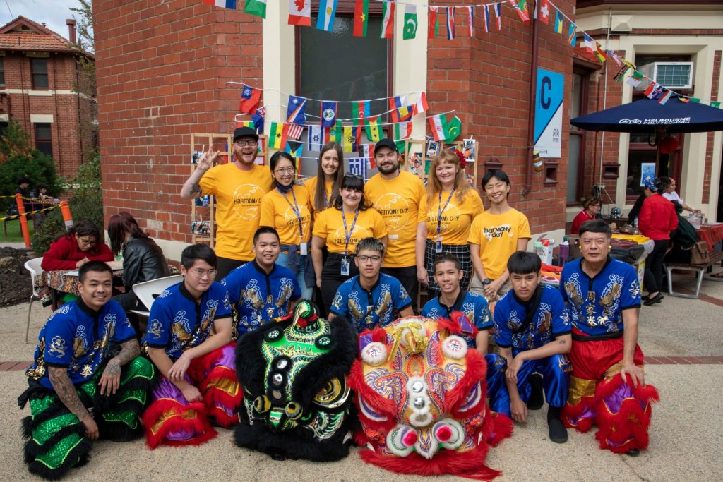
[[[469,289],[490,303],[510,291],[508,259],[515,251],[527,251],[531,238],[527,217],[507,202],[511,187],[505,171],[493,169],[484,175],[482,188],[489,209],[474,218],[469,230],[475,273]]]

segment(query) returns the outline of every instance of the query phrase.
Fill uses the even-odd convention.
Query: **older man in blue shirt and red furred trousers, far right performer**
[[[588,431],[596,423],[600,447],[638,455],[648,447],[651,403],[638,346],[640,284],[630,264],[609,257],[612,231],[603,220],[580,228],[583,257],[562,268],[560,291],[573,324],[568,403],[562,420]]]

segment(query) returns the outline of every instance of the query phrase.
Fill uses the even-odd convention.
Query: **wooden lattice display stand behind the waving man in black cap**
[[[268,164],[268,148],[267,148],[267,137],[265,135],[259,136],[260,152],[257,154],[263,158],[263,164]],[[225,164],[228,160],[234,157],[234,143],[233,134],[191,134],[191,156],[193,157],[194,152],[198,152],[205,149],[213,150],[213,145],[225,145],[225,152],[219,157],[221,162],[216,160],[215,164]],[[218,150],[218,149],[217,149]],[[228,156],[228,157],[226,157]],[[226,159],[223,159],[223,158]],[[191,173],[196,170],[196,163],[191,165]],[[191,202],[191,222],[192,223],[208,223],[208,233],[198,234],[197,231],[192,230],[191,242],[196,243],[208,243],[212,248],[215,247],[215,197],[210,197],[208,206],[197,206],[196,199]],[[193,225],[193,224],[192,224]]]

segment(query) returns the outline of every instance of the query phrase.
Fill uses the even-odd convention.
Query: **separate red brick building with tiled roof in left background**
[[[69,37],[75,38],[75,21]],[[82,121],[93,109],[90,100],[73,91],[77,59],[90,53],[61,35],[25,17],[0,27],[0,129],[20,122],[33,145],[51,155],[61,176],[73,177],[95,139]]]

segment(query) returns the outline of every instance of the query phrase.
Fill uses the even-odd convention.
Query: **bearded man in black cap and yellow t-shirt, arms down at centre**
[[[424,182],[414,174],[399,170],[399,152],[391,139],[381,139],[374,147],[379,173],[364,186],[364,195],[387,224],[387,253],[382,272],[397,278],[418,312],[416,295],[416,213],[424,197]]]

